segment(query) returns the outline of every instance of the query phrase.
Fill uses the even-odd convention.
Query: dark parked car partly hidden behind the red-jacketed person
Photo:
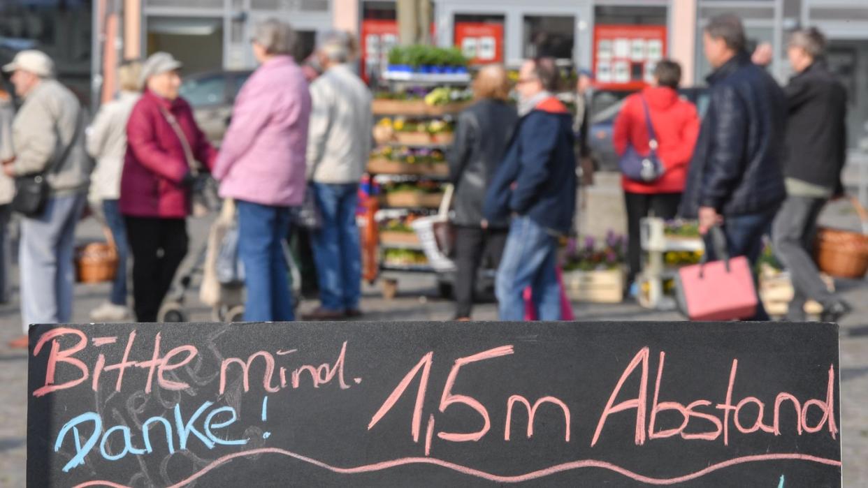
[[[708,108],[707,88],[681,88],[681,97],[692,101],[699,111],[700,117]],[[615,127],[615,117],[624,106],[624,99],[631,91],[602,90],[595,92],[591,99],[591,128],[588,143],[591,153],[599,162],[600,171],[618,171],[618,155],[612,144],[612,132]]]

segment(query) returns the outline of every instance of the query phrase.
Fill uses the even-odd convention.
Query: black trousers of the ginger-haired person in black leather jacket
[[[455,226],[456,318],[470,318],[473,293],[477,288],[477,272],[483,264],[483,257],[488,257],[488,264],[497,269],[508,234],[506,229],[483,230],[479,227]]]

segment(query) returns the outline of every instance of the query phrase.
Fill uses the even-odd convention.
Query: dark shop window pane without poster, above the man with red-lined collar
[[[575,16],[524,16],[525,58],[573,59]]]

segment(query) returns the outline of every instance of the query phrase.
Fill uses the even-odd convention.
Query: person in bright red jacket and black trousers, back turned
[[[633,283],[641,266],[640,220],[651,211],[655,217],[675,218],[687,181],[687,166],[700,132],[696,107],[679,97],[680,82],[681,66],[677,62],[658,62],[652,86],[628,96],[615,120],[612,135],[615,152],[622,155],[629,145],[640,154],[648,154],[648,127],[642,101],[646,102],[657,137],[657,156],[664,170],[659,179],[650,183],[621,176],[627,202],[627,283]]]

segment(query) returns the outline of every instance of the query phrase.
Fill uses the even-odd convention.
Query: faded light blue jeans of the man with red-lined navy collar
[[[510,224],[500,267],[496,296],[500,320],[524,319],[523,292],[533,290],[536,316],[541,321],[561,320],[561,293],[557,284],[557,237],[529,217],[516,217]]]

